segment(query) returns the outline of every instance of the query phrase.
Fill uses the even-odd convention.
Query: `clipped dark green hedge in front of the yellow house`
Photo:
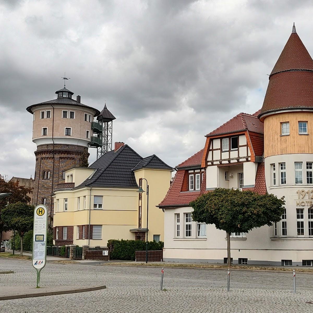
[[[163,241],[149,241],[148,250],[162,250]],[[108,241],[111,260],[132,260],[135,261],[135,251],[146,251],[146,242],[141,240],[116,240]]]

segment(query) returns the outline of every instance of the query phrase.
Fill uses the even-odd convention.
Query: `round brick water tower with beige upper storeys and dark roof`
[[[55,93],[56,99],[26,109],[33,114],[33,142],[37,145],[33,205],[47,206],[50,229],[53,225],[51,195],[56,186],[65,181],[65,170],[87,166],[88,147],[97,146],[99,141],[97,135],[93,135],[97,131],[93,120],[100,114],[97,109],[82,104],[80,96],[72,99],[74,93],[65,87]]]

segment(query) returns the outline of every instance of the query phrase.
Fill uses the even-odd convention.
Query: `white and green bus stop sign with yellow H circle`
[[[46,265],[47,257],[47,213],[44,204],[39,204],[34,210],[33,226],[33,267],[37,271],[37,287],[40,287],[40,271]]]

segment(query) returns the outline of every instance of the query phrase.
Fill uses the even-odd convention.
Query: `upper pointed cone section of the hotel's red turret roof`
[[[297,33],[291,33],[271,75],[290,69],[313,70],[313,60]]]

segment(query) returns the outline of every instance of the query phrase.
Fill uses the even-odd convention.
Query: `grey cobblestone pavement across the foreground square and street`
[[[10,287],[36,282],[29,261],[0,258],[0,294]],[[231,272],[231,291],[226,292],[226,270],[165,269],[166,291],[159,291],[159,268],[113,267],[47,263],[41,285],[55,290],[62,286],[106,285],[107,289],[79,294],[0,301],[1,313],[89,312],[312,312],[313,275],[297,275],[292,293],[292,274]],[[21,287],[24,286],[24,287]]]

